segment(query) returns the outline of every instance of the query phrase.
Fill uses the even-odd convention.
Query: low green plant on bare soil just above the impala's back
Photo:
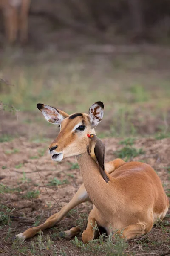
[[[130,146],[125,146],[124,148],[115,151],[114,154],[119,158],[125,158],[125,161],[129,161],[140,154],[144,154],[144,151],[142,148],[136,149]]]

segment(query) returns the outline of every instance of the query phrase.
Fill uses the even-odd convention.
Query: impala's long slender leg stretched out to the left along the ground
[[[59,221],[61,221],[62,218],[71,209],[73,209],[75,206],[77,206],[78,204],[81,204],[85,201],[90,201],[90,198],[88,197],[85,187],[82,184],[82,186],[80,186],[79,190],[74,195],[74,197],[71,199],[71,201],[65,207],[63,207],[59,212],[52,215],[50,218],[48,218],[45,221],[45,223],[41,224],[40,226],[31,227],[28,230],[26,230],[25,232],[18,234],[17,237],[19,237],[21,239],[31,238],[31,237],[35,236],[40,230],[43,231],[49,227],[53,227],[55,224],[57,224]],[[68,230],[69,231],[68,236],[71,236],[71,233],[72,233],[72,236],[74,236],[75,233],[77,234],[78,229],[79,228],[77,228],[77,230],[76,229]]]

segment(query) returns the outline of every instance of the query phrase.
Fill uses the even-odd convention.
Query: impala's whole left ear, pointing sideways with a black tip
[[[45,116],[45,119],[54,125],[60,125],[62,120],[69,116],[64,111],[58,110],[45,104],[38,103],[37,108]]]

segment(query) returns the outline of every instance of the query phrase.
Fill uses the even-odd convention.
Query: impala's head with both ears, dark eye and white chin
[[[48,122],[60,125],[57,138],[49,146],[49,154],[52,154],[54,161],[62,161],[65,157],[87,152],[90,146],[87,134],[95,134],[94,128],[102,120],[104,105],[102,102],[95,102],[90,107],[89,114],[74,113],[70,116],[64,111],[40,103],[37,108]]]

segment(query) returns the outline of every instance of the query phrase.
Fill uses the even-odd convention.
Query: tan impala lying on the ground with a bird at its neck
[[[83,184],[72,200],[60,212],[52,215],[44,224],[32,227],[17,236],[26,239],[39,230],[45,230],[61,221],[77,204],[91,200],[94,208],[88,217],[88,225],[82,233],[84,243],[94,239],[93,226],[104,227],[108,234],[119,229],[122,237],[130,239],[149,232],[153,222],[166,215],[169,201],[156,172],[146,163],[117,159],[105,164],[108,183],[102,178],[99,166],[90,156],[91,140],[87,134],[95,134],[94,128],[103,117],[104,105],[96,102],[89,114],[67,113],[44,104],[37,104],[48,122],[60,125],[60,133],[49,146],[54,161],[77,156]],[[112,172],[115,170],[114,172]],[[110,228],[111,227],[111,228]],[[77,234],[77,228],[66,231],[66,236]],[[113,235],[114,236],[114,235]]]

